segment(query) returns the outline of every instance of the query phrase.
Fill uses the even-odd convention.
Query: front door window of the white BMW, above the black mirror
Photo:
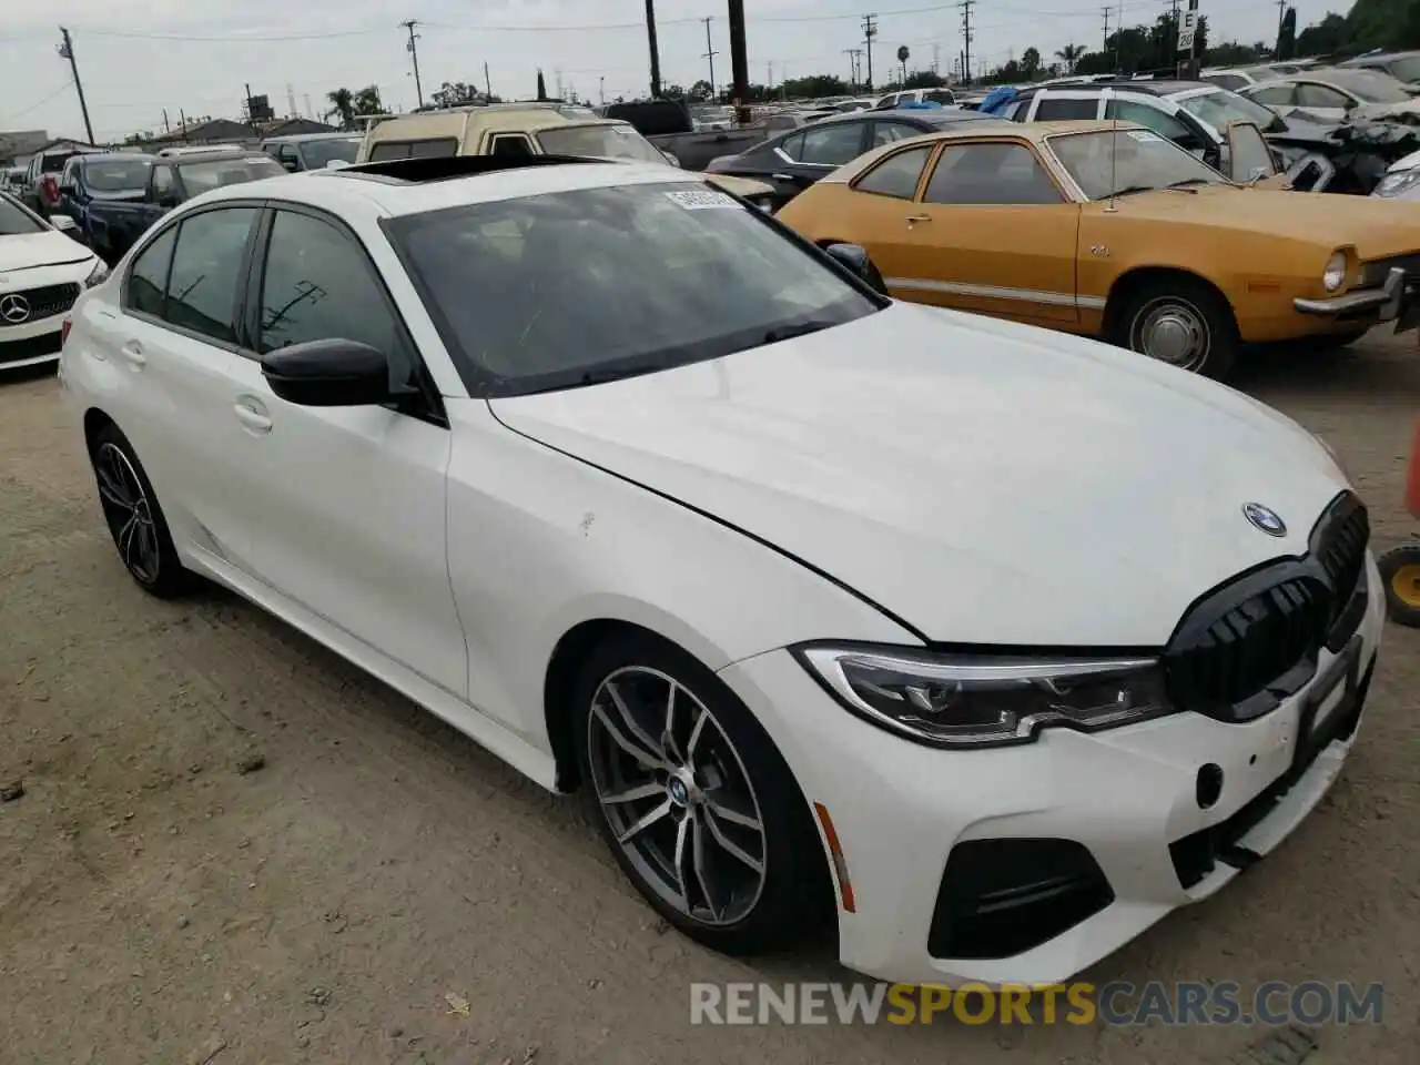
[[[335,226],[281,210],[271,222],[261,277],[258,351],[346,339],[385,352],[409,383],[413,362],[365,251]]]

